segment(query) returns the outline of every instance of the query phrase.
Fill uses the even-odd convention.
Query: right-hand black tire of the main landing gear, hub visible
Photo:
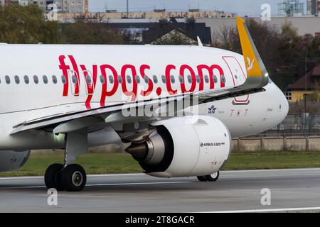
[[[80,192],[87,183],[87,175],[81,165],[67,165],[61,172],[61,183],[69,192]]]

